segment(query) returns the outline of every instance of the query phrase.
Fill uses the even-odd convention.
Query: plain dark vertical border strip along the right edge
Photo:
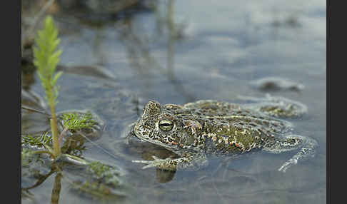
[[[334,2],[336,6],[331,6]],[[336,4],[340,1],[326,1],[326,195],[327,203],[341,203],[346,200],[346,9]],[[335,25],[335,26],[333,26]],[[335,28],[335,31],[333,31]],[[341,49],[336,49],[336,48]],[[334,49],[335,48],[335,51]],[[340,73],[339,73],[340,72]],[[335,94],[334,94],[335,93]],[[332,96],[338,96],[333,99]],[[340,117],[341,115],[342,117]],[[335,164],[335,165],[333,165]],[[346,178],[346,176],[345,176]],[[331,185],[333,183],[333,185]],[[335,201],[333,201],[335,200]],[[342,201],[346,202],[346,201]]]

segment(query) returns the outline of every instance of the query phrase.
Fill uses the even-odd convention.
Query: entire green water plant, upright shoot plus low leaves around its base
[[[31,196],[30,189],[41,185],[46,178],[56,173],[51,199],[58,203],[61,178],[64,174],[63,166],[66,162],[69,162],[69,164],[79,166],[78,173],[85,170],[84,176],[89,175],[89,179],[83,177],[78,180],[77,183],[81,183],[81,185],[74,185],[74,188],[82,193],[95,195],[96,198],[119,198],[119,195],[114,192],[114,189],[121,185],[119,168],[100,162],[89,162],[81,157],[82,151],[85,150],[84,139],[91,142],[88,137],[98,136],[98,131],[103,126],[103,122],[89,111],[71,111],[56,114],[56,104],[59,96],[59,86],[56,86],[56,82],[62,73],[61,71],[56,72],[56,66],[59,63],[62,51],[57,49],[60,39],[58,38],[58,29],[56,29],[51,16],[47,16],[44,20],[44,29],[39,31],[35,42],[34,65],[46,93],[45,99],[51,109],[51,131],[41,133],[40,136],[21,136],[22,179],[28,178],[30,181],[32,178],[37,178],[36,183],[33,185],[21,188],[22,196]],[[34,109],[31,110],[31,108],[25,109],[40,113]],[[63,127],[60,133],[58,124]],[[66,136],[65,133],[67,132],[69,132],[69,137],[66,137],[64,146],[62,146],[62,138]],[[54,160],[50,160],[49,157],[41,157],[42,153],[49,154]],[[49,173],[40,173],[40,169],[47,170],[47,168],[50,169]],[[66,176],[66,180],[69,183],[76,183],[74,180],[70,180],[69,176]]]

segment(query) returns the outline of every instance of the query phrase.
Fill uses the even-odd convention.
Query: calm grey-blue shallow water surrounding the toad
[[[106,122],[95,142],[114,157],[93,145],[84,155],[125,170],[126,198],[109,203],[326,203],[326,1],[172,1],[171,15],[171,1],[163,2],[158,11],[97,28],[74,22],[61,34],[62,65],[106,70],[65,71],[57,111],[90,109]],[[251,86],[263,77],[286,78],[304,88]],[[44,96],[39,77],[35,80],[31,91]],[[306,115],[290,121],[294,133],[318,141],[315,158],[286,173],[277,169],[292,153],[209,158],[207,168],[174,174],[131,163],[167,153],[126,138],[147,101],[237,101],[240,95],[266,93],[308,106]],[[22,133],[33,123],[25,119]],[[60,203],[99,203],[72,192],[64,178],[61,182]],[[31,190],[34,201],[22,203],[51,200],[53,183],[51,176]]]

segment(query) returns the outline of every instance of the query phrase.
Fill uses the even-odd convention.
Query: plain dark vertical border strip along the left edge
[[[6,1],[1,6],[1,107],[4,111],[0,154],[4,203],[21,203],[21,1]]]

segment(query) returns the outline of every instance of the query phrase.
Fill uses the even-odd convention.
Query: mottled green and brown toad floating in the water
[[[144,168],[197,170],[207,165],[206,155],[238,155],[256,150],[281,153],[299,149],[278,170],[314,155],[312,138],[292,135],[293,127],[281,118],[298,117],[306,106],[286,98],[244,98],[256,103],[236,104],[202,100],[183,106],[149,101],[134,126],[138,138],[164,146],[180,158],[134,160]]]

